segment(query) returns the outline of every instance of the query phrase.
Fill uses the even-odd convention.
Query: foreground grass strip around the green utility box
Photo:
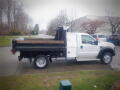
[[[1,90],[59,90],[60,80],[70,80],[72,90],[110,90],[120,80],[118,71],[79,71],[0,77]]]

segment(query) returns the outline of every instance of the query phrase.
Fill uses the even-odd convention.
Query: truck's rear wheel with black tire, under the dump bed
[[[48,58],[46,56],[37,56],[34,60],[34,66],[38,69],[46,68],[48,63]]]

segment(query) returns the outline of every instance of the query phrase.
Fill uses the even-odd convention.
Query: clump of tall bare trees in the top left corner
[[[24,12],[21,0],[0,0],[0,26],[1,32],[20,31],[24,32],[29,27],[30,18]]]

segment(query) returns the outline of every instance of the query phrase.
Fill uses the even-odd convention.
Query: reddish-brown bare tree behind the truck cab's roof
[[[83,22],[81,24],[81,28],[86,30],[89,34],[94,34],[96,30],[101,27],[105,22],[98,20],[88,20],[87,22]]]

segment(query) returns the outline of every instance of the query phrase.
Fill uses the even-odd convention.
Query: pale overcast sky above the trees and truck
[[[106,11],[120,16],[120,0],[23,0],[25,11],[39,24],[40,29],[46,29],[51,19],[61,10],[65,10],[69,18],[79,18],[85,15],[105,16]]]

